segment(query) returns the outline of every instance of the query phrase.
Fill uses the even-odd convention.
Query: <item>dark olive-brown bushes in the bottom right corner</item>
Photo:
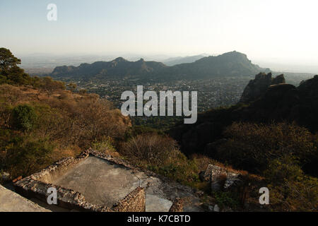
[[[284,156],[273,160],[264,175],[273,210],[318,210],[318,180],[306,176],[294,157]]]

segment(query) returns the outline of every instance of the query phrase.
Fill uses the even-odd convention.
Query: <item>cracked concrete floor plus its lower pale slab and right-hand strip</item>
[[[163,182],[157,177],[99,157],[89,156],[51,182],[67,189],[79,191],[86,201],[111,207],[126,194],[142,186],[146,189],[146,211],[168,211],[176,197],[187,197],[184,211],[201,211],[199,198],[191,191],[184,191],[177,183]]]

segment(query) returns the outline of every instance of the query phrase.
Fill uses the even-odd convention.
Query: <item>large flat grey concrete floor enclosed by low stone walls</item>
[[[112,207],[139,186],[139,178],[131,169],[90,156],[52,184],[81,192],[89,203]]]

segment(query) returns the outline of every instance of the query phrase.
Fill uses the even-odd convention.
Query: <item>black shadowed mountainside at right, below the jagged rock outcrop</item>
[[[261,75],[275,81],[271,75]],[[258,83],[260,77],[254,81]],[[257,97],[241,99],[228,108],[211,109],[198,115],[196,124],[179,124],[170,130],[170,135],[181,145],[187,155],[204,153],[213,156],[216,141],[223,138],[223,131],[234,121],[271,123],[272,121],[295,121],[298,125],[318,132],[318,76],[300,83],[298,87],[281,83],[283,76],[276,77],[276,85],[255,93]],[[242,95],[244,97],[244,95]],[[251,96],[250,96],[251,97]]]

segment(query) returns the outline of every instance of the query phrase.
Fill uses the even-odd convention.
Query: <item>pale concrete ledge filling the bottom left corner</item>
[[[0,212],[50,212],[0,185]]]

